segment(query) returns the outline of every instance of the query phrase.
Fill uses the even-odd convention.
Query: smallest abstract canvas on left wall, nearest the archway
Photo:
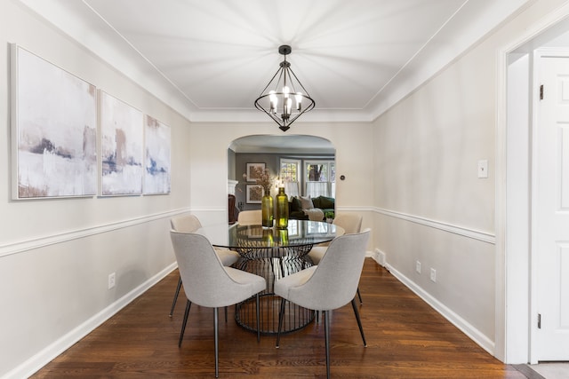
[[[144,194],[170,193],[170,127],[147,115],[144,131]]]

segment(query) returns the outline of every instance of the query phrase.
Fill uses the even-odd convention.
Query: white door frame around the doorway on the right
[[[497,57],[497,107],[496,107],[496,296],[495,296],[495,336],[494,355],[509,364],[537,363],[532,341],[534,328],[537,328],[537,312],[535,310],[535,270],[531,255],[531,220],[532,220],[532,176],[533,157],[531,139],[525,146],[514,141],[509,146],[509,136],[519,132],[513,122],[509,122],[509,107],[512,100],[509,96],[509,80],[525,80],[529,91],[534,91],[533,51],[536,46],[548,41],[551,36],[560,35],[560,31],[569,23],[569,4],[565,4],[555,12],[546,15],[542,20],[530,26],[523,36],[498,51]],[[556,35],[557,33],[557,35]],[[512,61],[527,54],[528,63],[525,77],[517,74],[511,77],[509,67]],[[531,92],[530,92],[531,93]],[[529,95],[531,96],[531,95]],[[522,109],[527,116],[528,138],[532,138],[536,114],[532,112],[533,100],[530,97],[528,106]],[[522,130],[524,131],[524,130]],[[510,144],[512,141],[510,140]],[[509,147],[509,148],[508,148]],[[512,151],[526,157],[527,160],[515,160]],[[516,156],[516,155],[514,155]],[[509,172],[521,170],[524,177],[512,178]],[[508,190],[526,186],[528,192],[512,199]],[[514,223],[521,213],[527,214],[525,222]],[[510,236],[528,235],[530,241],[523,249],[511,246]],[[519,247],[517,247],[519,248]],[[528,264],[529,263],[529,264]]]

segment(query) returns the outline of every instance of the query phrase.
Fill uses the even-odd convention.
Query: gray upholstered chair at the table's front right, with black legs
[[[328,377],[330,377],[330,311],[341,308],[351,301],[364,346],[367,345],[355,296],[364,266],[369,234],[369,229],[365,229],[362,233],[350,233],[336,237],[330,242],[328,251],[319,265],[275,281],[275,294],[282,297],[278,315],[276,347],[278,348],[280,343],[284,304],[287,300],[304,308],[324,312],[326,374]]]

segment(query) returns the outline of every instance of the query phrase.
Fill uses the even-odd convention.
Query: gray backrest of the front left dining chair
[[[221,307],[235,304],[241,285],[232,280],[203,235],[170,231],[184,292],[194,304]]]

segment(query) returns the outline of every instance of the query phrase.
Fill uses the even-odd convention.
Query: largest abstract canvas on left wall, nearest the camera
[[[96,88],[11,45],[12,198],[97,194]]]

